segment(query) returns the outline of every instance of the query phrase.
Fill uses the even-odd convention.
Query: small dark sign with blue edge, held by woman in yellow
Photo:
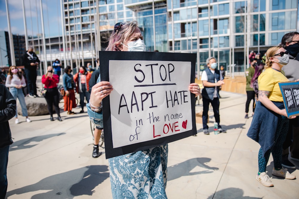
[[[278,83],[288,118],[299,115],[299,82]]]

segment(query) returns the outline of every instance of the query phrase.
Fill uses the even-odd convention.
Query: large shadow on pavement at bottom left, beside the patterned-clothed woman
[[[6,197],[39,191],[31,199],[74,198],[79,195],[92,195],[93,189],[109,178],[106,165],[91,165],[56,174],[41,181],[7,192]],[[44,190],[44,193],[40,193]]]

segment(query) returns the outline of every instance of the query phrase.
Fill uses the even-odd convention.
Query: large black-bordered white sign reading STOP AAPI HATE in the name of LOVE
[[[106,158],[196,134],[196,54],[100,51]]]

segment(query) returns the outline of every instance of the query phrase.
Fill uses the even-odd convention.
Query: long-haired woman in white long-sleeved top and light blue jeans
[[[9,88],[13,97],[17,100],[19,99],[20,105],[22,107],[22,115],[26,117],[26,122],[31,122],[28,118],[27,106],[25,102],[25,97],[22,88],[26,86],[25,79],[23,75],[19,72],[17,67],[11,66],[8,71],[5,86]],[[19,124],[18,111],[16,110],[16,124]]]

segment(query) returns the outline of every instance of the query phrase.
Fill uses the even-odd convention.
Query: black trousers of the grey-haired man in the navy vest
[[[202,98],[202,105],[203,105],[203,112],[202,112],[202,128],[208,129],[208,111],[209,111],[209,105],[212,105],[213,111],[214,111],[214,118],[215,122],[218,123],[218,129],[221,128],[219,122],[220,122],[220,116],[219,116],[219,98],[213,98],[213,100]]]

